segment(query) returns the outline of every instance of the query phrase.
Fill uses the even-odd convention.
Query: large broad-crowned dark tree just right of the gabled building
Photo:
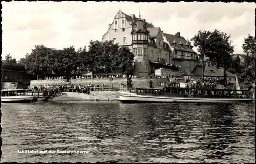
[[[231,54],[234,51],[234,46],[231,45],[230,35],[220,32],[215,29],[213,32],[199,31],[191,40],[194,45],[199,47],[199,52],[202,57],[205,55],[211,62],[216,63],[217,69],[224,67],[224,86],[226,86],[226,70],[232,65]]]

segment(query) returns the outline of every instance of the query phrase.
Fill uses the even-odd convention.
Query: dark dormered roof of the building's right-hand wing
[[[195,51],[193,51],[192,49],[189,49],[187,46],[181,46],[180,44],[176,44],[176,46],[173,44],[173,41],[175,40],[176,43],[180,43],[182,42],[183,45],[186,45],[186,39],[183,36],[176,36],[176,35],[172,35],[172,34],[167,34],[167,33],[163,33],[164,36],[166,36],[166,39],[169,40],[170,45],[173,46],[174,50],[181,50],[181,51],[188,51],[188,52],[193,52],[196,53]]]

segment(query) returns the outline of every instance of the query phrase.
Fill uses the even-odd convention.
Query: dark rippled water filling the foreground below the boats
[[[2,104],[1,112],[1,162],[252,163],[255,159],[253,103],[55,101]],[[57,153],[65,150],[84,152]]]

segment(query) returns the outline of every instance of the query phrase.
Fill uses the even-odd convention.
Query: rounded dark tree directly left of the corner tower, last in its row
[[[123,46],[119,49],[118,59],[116,61],[117,61],[117,65],[120,65],[120,67],[122,68],[122,72],[126,72],[126,74],[129,74],[129,75],[132,74],[133,59],[134,59],[134,54],[130,51],[129,48],[127,48],[126,46]]]

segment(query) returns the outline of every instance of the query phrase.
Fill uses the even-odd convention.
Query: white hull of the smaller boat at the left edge
[[[17,103],[22,103],[22,102],[31,102],[33,101],[34,98],[33,96],[1,96],[1,102],[3,103],[12,103],[12,102],[17,102]]]

